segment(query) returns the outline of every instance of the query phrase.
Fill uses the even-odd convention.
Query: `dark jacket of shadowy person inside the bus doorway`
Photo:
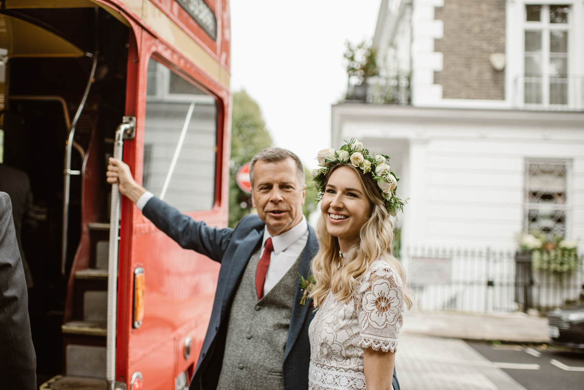
[[[16,241],[20,249],[22,266],[25,269],[26,285],[33,287],[33,277],[29,263],[26,261],[25,251],[22,249],[23,227],[36,227],[36,218],[33,213],[33,193],[30,191],[29,176],[20,169],[12,168],[0,163],[0,191],[9,194],[12,201],[12,218],[16,229]]]

